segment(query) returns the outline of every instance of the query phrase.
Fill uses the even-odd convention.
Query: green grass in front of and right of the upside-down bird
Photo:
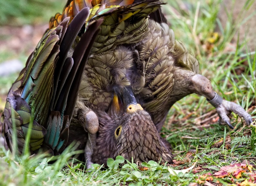
[[[180,8],[184,7],[182,2],[187,8]],[[237,28],[243,26],[244,13],[235,24],[228,19],[228,26],[220,29],[219,39],[207,49],[207,41],[216,26],[220,25],[217,13],[221,2],[182,2],[168,0],[168,5],[163,8],[176,38],[196,55],[202,75],[211,80],[213,89],[224,99],[244,107],[255,119],[256,54],[248,52],[249,49],[244,47],[246,43],[237,44],[231,52],[226,50]],[[11,82],[13,79],[0,78],[1,90],[9,89]],[[186,174],[171,175],[167,165],[153,161],[144,162],[142,165],[146,168],[142,171],[136,162],[127,162],[121,157],[115,161],[109,159],[109,168],[94,164],[86,170],[83,162],[70,158],[78,153],[75,145],[55,157],[18,156],[0,148],[0,185],[188,185],[198,182],[199,175],[214,173],[229,163],[244,160],[255,163],[256,152],[251,150],[249,126],[231,114],[235,129],[230,130],[228,126],[219,125],[217,118],[215,109],[206,99],[194,94],[181,99],[171,108],[161,135],[171,143],[174,160],[181,162],[174,169],[191,167],[197,161],[194,170]],[[117,166],[124,161],[126,164],[123,167]],[[255,174],[255,166],[252,172]],[[240,178],[214,178],[213,183],[231,185],[249,178],[249,174],[242,173]]]

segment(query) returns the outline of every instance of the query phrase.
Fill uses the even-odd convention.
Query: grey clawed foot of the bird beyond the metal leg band
[[[223,102],[216,107],[217,113],[220,116],[220,123],[227,124],[231,129],[234,129],[234,127],[230,123],[230,119],[228,118],[228,115],[231,112],[236,113],[239,117],[244,118],[245,123],[247,125],[250,125],[252,123],[252,117],[250,114],[248,114],[243,107],[239,106],[238,104],[235,104],[233,102],[229,102],[226,100],[223,100]]]

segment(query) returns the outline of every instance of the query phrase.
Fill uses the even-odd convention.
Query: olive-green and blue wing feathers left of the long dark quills
[[[0,132],[4,135],[6,148],[11,150],[13,148],[12,135],[13,126],[15,126],[18,137],[18,150],[19,152],[22,151],[25,137],[30,127],[29,122],[32,119],[34,121],[32,120],[33,124],[31,126],[30,149],[36,150],[43,144],[44,136],[47,132],[44,126],[50,104],[49,102],[44,102],[44,99],[52,95],[51,85],[57,61],[56,56],[59,53],[57,43],[61,36],[61,27],[45,33],[35,51],[28,58],[26,67],[21,71],[8,93],[0,121],[2,130]],[[36,86],[36,84],[41,86]],[[33,116],[31,111],[33,111]]]

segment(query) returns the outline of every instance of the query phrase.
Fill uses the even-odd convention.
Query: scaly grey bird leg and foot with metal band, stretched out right
[[[230,119],[228,118],[228,115],[231,112],[236,113],[239,117],[243,117],[247,125],[252,123],[251,115],[248,114],[241,106],[233,102],[222,100],[222,98],[213,91],[211,82],[206,77],[196,74],[191,77],[191,82],[193,83],[192,91],[206,97],[207,101],[216,108],[217,113],[220,116],[221,124],[226,123],[230,128],[234,129],[230,123]]]

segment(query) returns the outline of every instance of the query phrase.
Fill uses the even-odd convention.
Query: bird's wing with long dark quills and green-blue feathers
[[[6,147],[16,148],[15,136],[19,152],[26,141],[31,151],[43,144],[56,153],[65,147],[84,71],[85,63],[81,61],[87,60],[103,21],[98,19],[87,25],[78,47],[68,56],[89,14],[89,8],[84,8],[72,21],[64,18],[44,34],[28,58],[8,93],[0,119]]]

